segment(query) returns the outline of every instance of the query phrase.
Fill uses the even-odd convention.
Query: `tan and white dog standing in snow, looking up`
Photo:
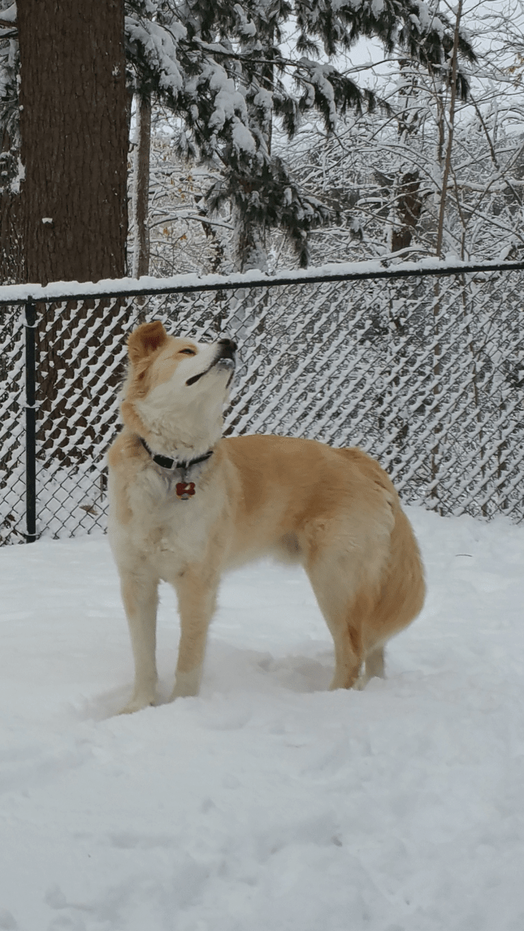
[[[384,644],[420,612],[412,527],[386,472],[359,449],[310,439],[222,439],[236,344],[143,323],[128,339],[124,429],[109,452],[109,539],[135,660],[123,712],[156,699],[160,580],[176,589],[172,699],[197,695],[224,571],[273,555],[301,563],[334,640],[332,689],[384,675]]]

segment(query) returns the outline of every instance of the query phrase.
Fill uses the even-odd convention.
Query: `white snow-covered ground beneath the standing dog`
[[[426,608],[328,693],[305,576],[221,589],[202,694],[132,681],[103,537],[0,550],[0,928],[522,931],[524,527],[409,508]],[[162,589],[161,693],[175,599]]]

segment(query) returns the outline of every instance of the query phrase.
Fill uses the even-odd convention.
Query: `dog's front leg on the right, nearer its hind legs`
[[[216,608],[218,576],[208,570],[188,568],[177,577],[175,588],[180,644],[172,701],[199,693],[207,629]]]

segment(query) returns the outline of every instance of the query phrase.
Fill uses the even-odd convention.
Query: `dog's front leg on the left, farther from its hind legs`
[[[156,700],[156,609],[158,579],[146,573],[122,573],[122,600],[135,659],[135,688],[120,711],[130,714]]]

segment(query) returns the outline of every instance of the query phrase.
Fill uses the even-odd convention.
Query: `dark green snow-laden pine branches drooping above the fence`
[[[419,0],[129,0],[128,56],[136,80],[181,118],[180,152],[221,167],[208,206],[227,200],[240,218],[242,267],[259,266],[264,232],[274,226],[287,232],[306,265],[308,233],[330,216],[271,152],[273,119],[293,137],[312,111],[332,132],[338,115],[373,109],[373,93],[325,61],[349,51],[360,36],[378,37],[388,54],[399,49],[449,83],[453,28],[438,7]],[[291,20],[297,31],[290,53],[285,30]],[[462,61],[475,61],[462,35],[459,52]],[[464,97],[464,71],[456,83]]]

